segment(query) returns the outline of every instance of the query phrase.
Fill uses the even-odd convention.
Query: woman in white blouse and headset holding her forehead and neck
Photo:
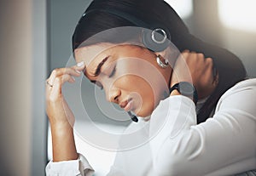
[[[55,69],[46,84],[53,141],[48,175],[93,174],[77,153],[74,116],[61,94],[62,84],[81,71],[108,101],[149,124],[140,133],[148,143],[118,153],[108,175],[255,174],[256,81],[241,82],[241,61],[189,34],[167,3],[93,1],[74,31],[73,51],[78,65]]]

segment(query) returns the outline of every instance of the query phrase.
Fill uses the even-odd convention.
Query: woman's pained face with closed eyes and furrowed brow
[[[84,75],[105,90],[106,99],[137,116],[149,116],[165,98],[171,66],[160,68],[156,54],[137,45],[99,43],[75,49]]]

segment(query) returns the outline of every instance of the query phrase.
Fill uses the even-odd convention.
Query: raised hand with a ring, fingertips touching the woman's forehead
[[[80,65],[80,66],[78,66]],[[67,105],[66,100],[61,94],[64,82],[75,82],[73,77],[79,77],[84,70],[84,64],[74,65],[70,68],[58,68],[51,72],[46,80],[46,112],[51,125],[67,124],[73,126],[73,112]]]

